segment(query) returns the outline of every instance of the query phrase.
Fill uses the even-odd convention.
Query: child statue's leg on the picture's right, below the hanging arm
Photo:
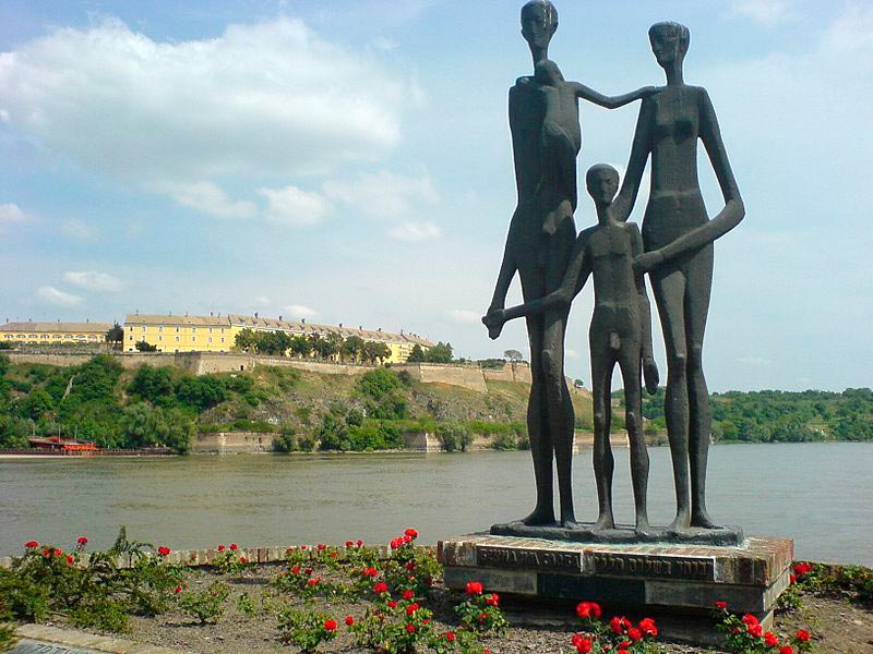
[[[624,384],[624,420],[627,427],[627,439],[631,445],[631,481],[634,487],[634,507],[636,509],[636,531],[649,529],[646,508],[646,489],[648,486],[648,451],[643,434],[643,398],[641,389],[641,346],[629,342],[622,347],[619,355],[622,380]]]

